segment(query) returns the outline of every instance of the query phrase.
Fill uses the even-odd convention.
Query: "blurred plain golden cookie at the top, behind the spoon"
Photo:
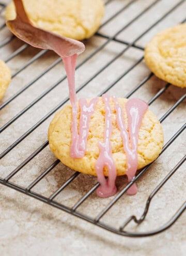
[[[32,23],[61,36],[83,40],[95,34],[104,14],[102,0],[23,0]],[[15,19],[11,2],[6,8],[6,20]]]

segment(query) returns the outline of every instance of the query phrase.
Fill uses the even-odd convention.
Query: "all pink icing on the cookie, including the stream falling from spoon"
[[[72,158],[82,158],[86,152],[86,144],[89,131],[89,121],[95,111],[98,98],[91,99],[88,103],[86,99],[80,99],[80,124],[77,130],[77,100],[75,94],[75,63],[77,54],[63,58],[67,79],[69,84],[69,96],[72,104],[72,143],[70,156]],[[115,180],[117,176],[116,165],[112,157],[111,135],[112,135],[112,112],[110,106],[110,97],[106,94],[102,96],[105,104],[105,129],[104,141],[99,142],[99,157],[96,161],[95,168],[100,186],[97,189],[99,197],[111,197],[116,193]],[[138,132],[142,123],[143,116],[148,109],[148,104],[140,99],[129,99],[126,103],[126,113],[128,118],[128,130],[123,121],[123,111],[116,97],[113,97],[116,107],[116,122],[120,130],[123,149],[127,156],[126,175],[129,182],[135,177],[137,171],[137,143]],[[108,179],[104,177],[104,168],[108,169]],[[133,184],[127,191],[128,194],[135,194],[137,187]]]

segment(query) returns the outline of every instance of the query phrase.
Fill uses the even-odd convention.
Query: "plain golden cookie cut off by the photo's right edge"
[[[157,34],[147,44],[145,62],[157,77],[186,87],[186,23]]]

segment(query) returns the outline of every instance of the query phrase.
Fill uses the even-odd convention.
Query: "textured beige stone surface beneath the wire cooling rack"
[[[134,4],[122,11],[111,22],[101,28],[105,35],[112,36],[127,24],[139,12],[143,11],[154,0],[137,0]],[[8,2],[4,0],[4,2]],[[115,12],[129,3],[130,0],[112,0],[106,6],[104,21],[113,16]],[[164,13],[176,5],[179,0],[161,0],[148,12],[137,19],[128,29],[121,32],[117,38],[130,42],[143,33],[152,23],[156,22]],[[1,8],[1,7],[0,7]],[[146,35],[138,40],[137,45],[144,47],[146,43],[163,29],[174,26],[185,19],[186,2],[169,14],[166,19],[154,26]],[[148,22],[147,22],[148,21]],[[4,16],[0,15],[0,24],[4,22]],[[140,28],[140,29],[139,29]],[[0,41],[11,36],[7,28],[1,30]],[[94,36],[86,42],[86,51],[79,56],[77,64],[80,64],[87,56],[101,46],[106,40]],[[1,45],[1,44],[0,44]],[[22,47],[23,42],[14,38],[6,46],[0,48],[2,59],[9,57],[15,50]],[[98,54],[89,59],[86,64],[76,70],[76,88],[84,84],[90,76],[93,76],[101,67],[111,61],[126,46],[118,42],[110,42]],[[26,64],[40,50],[28,47],[19,56],[12,58],[7,64],[12,74]],[[130,48],[114,63],[108,66],[94,80],[89,82],[79,93],[81,97],[95,97],[111,83],[126,72],[144,52]],[[2,103],[18,93],[20,89],[28,85],[34,78],[57,59],[52,52],[45,53],[37,61],[22,70],[13,77]],[[126,97],[135,86],[150,73],[144,62],[139,63],[134,69],[115,84],[109,91],[110,95]],[[37,82],[28,87],[22,94],[12,100],[0,112],[0,124],[3,126],[13,116],[22,111],[29,103],[36,100],[39,95],[49,89],[65,74],[64,66],[59,63],[47,72]],[[131,97],[149,101],[166,83],[152,76]],[[161,118],[177,100],[186,93],[185,88],[169,86],[165,92],[150,105],[149,109]],[[51,111],[59,102],[68,95],[67,80],[59,83],[50,93],[45,95],[32,108],[27,110],[17,121],[9,125],[0,134],[0,152],[16,141],[28,129],[34,126],[40,118]],[[163,122],[165,142],[172,138],[186,119],[186,102],[183,101]],[[57,110],[58,111],[58,110]],[[56,111],[56,112],[57,112]],[[6,177],[25,158],[29,157],[42,143],[47,140],[49,124],[56,114],[53,113],[40,126],[30,133],[22,142],[13,148],[0,160],[0,177]],[[146,200],[154,188],[172,170],[185,154],[185,131],[173,142],[165,152],[152,164],[151,168],[137,181],[139,192],[134,197],[123,195],[119,201],[109,210],[102,221],[118,228],[127,217],[136,215],[140,217],[144,211]],[[26,187],[33,182],[46,168],[56,160],[49,146],[46,146],[35,158],[26,164],[10,181]],[[130,224],[129,231],[149,231],[159,228],[166,223],[183,204],[186,194],[186,163],[168,180],[163,188],[153,198],[146,220],[136,226]],[[74,172],[63,164],[58,164],[46,175],[41,182],[33,188],[33,191],[49,197]],[[127,184],[125,177],[117,178],[117,187],[120,191]],[[72,207],[96,184],[96,177],[80,174],[63,192],[59,193],[56,201]],[[92,218],[96,217],[114,197],[100,199],[96,193],[92,195],[78,208]],[[1,256],[79,256],[79,255],[104,255],[104,256],[184,256],[186,251],[185,213],[176,223],[165,232],[146,238],[128,238],[115,235],[102,230],[95,225],[73,217],[52,206],[48,206],[27,195],[0,185],[0,255]]]

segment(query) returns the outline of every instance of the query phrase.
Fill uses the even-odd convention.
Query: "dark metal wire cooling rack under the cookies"
[[[106,2],[106,4],[110,4],[115,0],[109,0]],[[112,20],[114,20],[122,11],[126,10],[127,8],[130,7],[130,5],[135,4],[136,0],[129,1],[129,3],[125,4],[121,9],[119,9],[117,12],[115,12],[108,20],[106,20],[102,26],[108,24]],[[121,55],[123,55],[128,49],[130,48],[136,48],[141,51],[144,50],[143,47],[138,46],[136,42],[141,39],[144,35],[146,35],[154,26],[156,26],[159,22],[163,21],[167,16],[171,15],[174,10],[176,10],[178,7],[180,7],[183,3],[184,0],[179,1],[175,6],[173,6],[171,9],[169,9],[161,18],[159,18],[156,22],[154,22],[150,27],[148,27],[145,32],[143,32],[141,35],[135,38],[132,42],[128,42],[117,39],[117,36],[125,31],[126,28],[128,28],[132,23],[137,21],[140,17],[142,17],[146,12],[148,12],[153,6],[157,5],[160,3],[161,0],[156,0],[149,4],[142,12],[137,14],[131,21],[129,21],[125,26],[123,26],[117,33],[115,33],[112,37],[103,35],[102,33],[97,33],[96,35],[98,37],[104,38],[105,42],[101,44],[94,52],[92,52],[89,56],[87,56],[83,62],[81,62],[79,65],[77,65],[76,69],[79,69],[83,64],[85,64],[89,59],[91,59],[95,54],[97,54],[99,51],[101,51],[103,48],[107,46],[108,43],[111,41],[116,41],[119,42],[123,45],[126,46],[126,48],[122,51],[120,51],[114,58],[111,59],[108,63],[106,63],[100,70],[98,70],[93,76],[90,76],[89,79],[83,83],[79,88],[77,88],[76,92],[81,91],[92,79],[96,78],[102,71],[104,71],[108,66],[110,66],[116,59],[118,59]],[[5,5],[0,2],[0,14],[3,12]],[[114,11],[113,11],[114,12]],[[182,21],[183,23],[185,22],[185,19]],[[102,27],[101,26],[101,27]],[[5,28],[5,24],[2,24],[0,26],[0,35],[1,35],[1,30]],[[3,41],[0,41],[0,48],[6,46],[9,42],[13,40],[14,36],[11,36],[9,38],[6,38]],[[15,50],[10,56],[8,56],[5,59],[5,62],[10,61],[12,58],[15,56],[18,56],[20,53],[22,53],[26,48],[28,47],[27,44],[23,44],[20,48]],[[47,51],[46,50],[41,50],[39,53],[37,53],[33,58],[29,59],[29,61],[24,64],[19,70],[17,70],[15,73],[12,74],[12,78],[17,76],[22,70],[24,70],[26,67],[28,67],[30,64],[34,63],[39,59],[41,56],[43,56]],[[49,67],[47,67],[42,73],[39,74],[36,78],[34,78],[31,82],[29,82],[27,85],[22,87],[17,93],[15,93],[13,96],[11,96],[9,99],[7,99],[2,105],[0,106],[0,110],[5,108],[11,101],[13,101],[15,98],[17,98],[19,95],[21,95],[26,89],[28,89],[30,86],[32,86],[38,79],[43,77],[48,71],[53,69],[59,62],[61,61],[60,58],[57,58],[55,62],[53,62]],[[128,70],[123,72],[113,83],[108,85],[98,96],[101,96],[102,94],[106,93],[109,91],[113,86],[115,86],[123,77],[125,77],[131,70],[133,70],[139,63],[143,61],[143,57],[139,58]],[[153,76],[152,73],[150,73],[148,76],[146,76],[141,82],[139,82],[132,90],[130,93],[128,93],[125,97],[129,98],[131,95],[133,95],[139,88],[141,88],[151,77]],[[50,88],[48,88],[46,91],[44,91],[41,95],[39,95],[34,101],[29,103],[22,111],[20,111],[18,114],[13,116],[7,123],[5,123],[1,128],[0,132],[3,132],[7,127],[9,127],[11,124],[13,124],[20,116],[22,116],[26,111],[28,111],[30,108],[32,108],[39,100],[41,100],[45,95],[49,94],[56,86],[58,86],[61,82],[63,82],[66,79],[64,76],[61,78],[59,81],[57,81],[55,84],[53,84]],[[152,102],[156,101],[170,86],[170,84],[166,84],[164,87],[162,87],[150,100],[149,100],[149,105],[152,104]],[[160,118],[160,122],[162,123],[169,115],[172,113],[181,102],[186,98],[186,94],[182,95],[177,102],[174,103],[174,105],[166,112],[163,114],[163,116]],[[0,159],[3,159],[13,148],[15,148],[20,142],[25,140],[27,136],[32,133],[34,130],[36,130],[46,119],[48,119],[52,114],[54,114],[59,108],[61,108],[67,101],[69,100],[68,97],[66,97],[63,101],[59,102],[57,106],[52,109],[49,113],[47,113],[45,116],[43,116],[34,126],[30,127],[24,134],[21,135],[20,138],[18,138],[16,141],[14,141],[10,146],[8,146],[1,154],[0,154]],[[186,124],[184,124],[174,135],[173,137],[164,145],[162,153],[165,152],[165,150],[172,145],[172,143],[182,134],[186,127]],[[161,181],[160,184],[157,185],[157,187],[150,193],[147,201],[146,201],[146,206],[144,209],[144,213],[142,216],[137,219],[136,216],[131,215],[126,221],[123,222],[123,224],[119,228],[113,228],[112,226],[105,224],[103,221],[101,221],[101,218],[108,212],[108,210],[111,207],[114,207],[114,204],[122,197],[122,195],[127,191],[127,189],[136,181],[138,180],[148,169],[151,167],[151,164],[147,165],[143,170],[138,172],[136,175],[135,179],[132,180],[125,188],[123,188],[115,197],[114,199],[99,213],[99,215],[96,218],[91,218],[89,216],[86,216],[79,212],[77,208],[79,208],[80,205],[82,205],[83,202],[88,200],[89,196],[96,190],[96,188],[99,186],[99,183],[96,185],[92,186],[92,188],[79,200],[73,207],[67,207],[63,204],[60,204],[55,201],[56,196],[63,191],[78,175],[79,172],[74,172],[74,174],[66,180],[66,182],[61,185],[57,191],[55,191],[50,197],[44,197],[43,195],[36,193],[32,191],[34,186],[36,186],[43,177],[45,177],[47,174],[49,174],[59,163],[59,160],[56,160],[53,162],[49,168],[47,168],[42,174],[40,174],[31,184],[29,184],[27,187],[22,187],[16,183],[12,183],[10,179],[17,174],[26,164],[28,164],[32,159],[34,159],[46,146],[48,145],[48,141],[45,141],[40,147],[38,147],[29,157],[27,157],[21,164],[18,165],[17,168],[15,168],[11,173],[9,173],[5,178],[0,177],[0,183],[2,185],[5,185],[9,188],[18,190],[22,193],[25,193],[29,195],[30,197],[36,198],[46,204],[49,204],[51,206],[54,206],[56,208],[59,208],[61,210],[64,210],[67,213],[70,213],[74,216],[77,216],[81,219],[84,219],[92,224],[95,224],[101,228],[104,228],[108,231],[114,232],[116,234],[120,234],[123,236],[131,236],[131,237],[142,237],[142,236],[150,236],[154,235],[157,233],[160,233],[167,228],[169,228],[179,217],[180,215],[184,212],[186,208],[186,202],[182,204],[182,206],[177,209],[176,213],[172,218],[165,223],[162,227],[149,231],[149,232],[130,232],[126,231],[126,225],[131,222],[132,220],[135,221],[136,223],[141,223],[144,221],[148,209],[150,207],[151,200],[153,199],[154,195],[158,193],[160,188],[167,182],[167,180],[179,169],[179,167],[183,164],[183,162],[186,159],[186,156],[184,156],[176,165],[175,167],[164,177],[164,179]],[[162,153],[160,155],[162,155]]]

